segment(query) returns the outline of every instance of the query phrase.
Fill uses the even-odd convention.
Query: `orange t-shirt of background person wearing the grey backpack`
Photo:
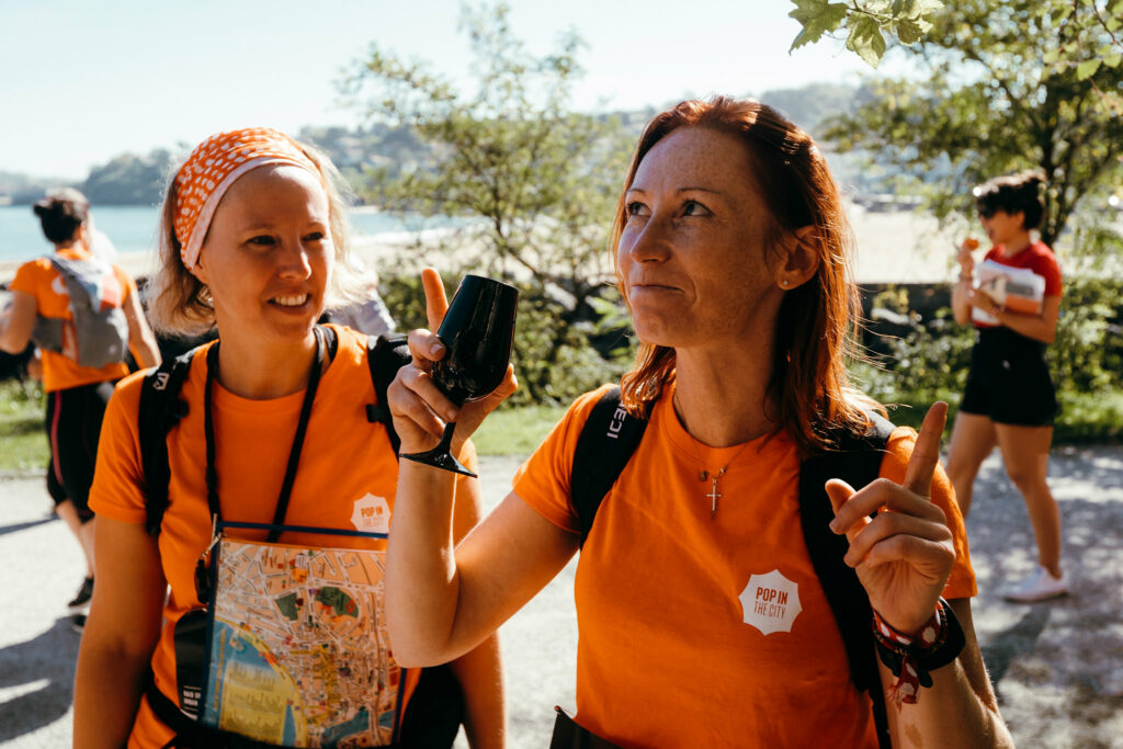
[[[74,261],[86,261],[93,257],[83,249],[62,249],[58,250],[58,255]],[[116,265],[112,268],[121,289],[120,304],[124,305],[129,294],[136,293],[137,285],[128,273]],[[9,287],[12,291],[21,291],[34,296],[36,313],[42,317],[61,320],[74,319],[74,313],[70,309],[71,300],[70,292],[66,290],[66,281],[46,257],[39,257],[20,265]],[[94,382],[120,380],[128,373],[129,367],[124,362],[107,364],[100,368],[80,367],[77,362],[69,356],[55,351],[43,351],[43,390],[48,393]]]

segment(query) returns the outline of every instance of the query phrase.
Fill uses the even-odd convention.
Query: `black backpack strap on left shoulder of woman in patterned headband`
[[[183,382],[191,372],[192,349],[164,362],[146,374],[140,383],[140,408],[137,431],[140,441],[140,467],[144,473],[145,529],[159,536],[159,526],[167,510],[167,433],[188,414],[188,404],[179,399]]]

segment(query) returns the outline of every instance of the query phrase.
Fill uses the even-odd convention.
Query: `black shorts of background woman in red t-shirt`
[[[1057,394],[1044,350],[1044,344],[1008,328],[976,330],[959,410],[996,423],[1051,427],[1057,418]]]

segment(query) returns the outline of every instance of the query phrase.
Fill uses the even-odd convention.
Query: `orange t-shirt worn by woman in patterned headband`
[[[349,328],[332,328],[339,337],[339,348],[316,393],[285,524],[384,532],[389,515],[381,528],[365,524],[360,528],[353,517],[358,517],[359,503],[372,504],[371,496],[384,499],[387,512],[392,513],[398,460],[385,428],[366,419],[366,404],[376,400],[366,364],[366,337]],[[172,478],[159,535],[159,556],[171,594],[164,605],[164,628],[152,667],[156,685],[173,700],[177,700],[175,623],[199,605],[193,577],[195,560],[208,546],[211,531],[203,432],[207,348],[192,358],[181,392],[181,399],[188,402],[188,415],[167,437]],[[90,506],[95,513],[129,523],[144,523],[146,518],[137,433],[143,376],[136,373],[124,380],[109,402],[98,448],[98,469],[90,490]],[[225,521],[273,521],[303,398],[301,391],[255,401],[214,384],[216,468]],[[460,459],[469,468],[475,465],[471,444]],[[264,538],[257,531],[228,533],[237,538]],[[385,548],[382,539],[308,533],[284,533],[279,542]],[[171,737],[171,731],[152,714],[147,701],[141,702],[128,746],[161,747]]]

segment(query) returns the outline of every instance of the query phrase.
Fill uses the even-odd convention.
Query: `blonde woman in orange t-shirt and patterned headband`
[[[90,503],[100,518],[99,547],[117,554],[97,558],[99,583],[75,681],[74,746],[148,749],[173,740],[181,747],[228,741],[265,746],[244,739],[245,733],[230,737],[206,729],[191,715],[190,700],[201,705],[209,697],[199,701],[183,691],[181,673],[191,660],[179,649],[179,625],[204,603],[214,605],[195,585],[197,560],[210,549],[212,522],[284,526],[280,545],[375,552],[348,557],[353,559],[377,558],[385,546],[398,462],[385,427],[367,418],[365,407],[376,395],[366,337],[317,325],[326,302],[344,295],[349,283],[341,180],[325,156],[277,130],[245,128],[211,136],[168,185],[161,258],[153,280],[156,328],[185,336],[217,328],[218,341],[188,359],[179,392],[188,409],[167,433],[168,502],[155,535],[146,530],[139,444],[144,376],[122,381],[109,403]],[[471,445],[462,455],[474,463]],[[475,481],[464,481],[455,494],[459,538],[478,518],[480,488]],[[309,528],[346,535],[332,535],[325,544],[323,535]],[[236,541],[264,538],[255,529],[225,532]],[[372,585],[378,582],[380,565],[356,569]],[[291,581],[298,586],[307,574],[293,563]],[[292,612],[293,627],[312,622],[308,628],[322,628],[334,638],[336,630],[357,622],[377,633],[383,614],[381,601],[373,600],[374,609],[362,620],[331,615],[337,605],[347,614],[356,612],[356,600],[343,588],[286,588],[274,603]],[[334,641],[317,641],[310,649],[327,652]],[[378,658],[386,654],[390,659],[384,645],[371,647],[378,648]],[[284,649],[262,650],[254,668],[275,667]],[[386,672],[360,675],[353,675],[348,663],[330,674],[316,670],[305,682],[372,700],[409,682],[392,663]],[[451,670],[463,686],[469,743],[502,747],[505,714],[496,639],[458,658]],[[334,686],[347,679],[351,683]],[[277,700],[265,689],[243,694],[258,705]],[[396,705],[404,703],[403,696]],[[347,704],[344,710],[356,716],[347,725],[332,724],[343,731],[337,738],[385,729],[377,720],[385,715],[381,707]],[[282,696],[279,710],[261,713],[262,719],[296,722],[319,709],[291,700],[285,705]],[[402,740],[401,746],[417,746],[408,733]]]

